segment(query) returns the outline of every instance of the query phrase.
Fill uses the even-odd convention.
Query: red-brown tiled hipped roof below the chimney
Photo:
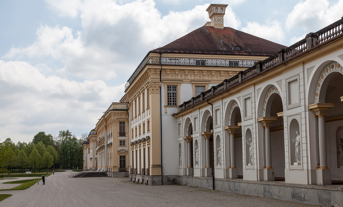
[[[242,50],[234,50],[239,46]],[[202,26],[172,43],[150,52],[218,54],[218,55],[259,55],[270,56],[286,46],[224,27]],[[236,49],[239,49],[236,47]]]

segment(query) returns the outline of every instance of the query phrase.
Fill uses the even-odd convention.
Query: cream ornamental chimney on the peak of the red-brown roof
[[[227,4],[213,4],[206,9],[208,12],[208,17],[211,19],[211,23],[206,23],[207,26],[213,26],[216,29],[223,29],[224,28],[224,15],[225,15],[225,8]]]

